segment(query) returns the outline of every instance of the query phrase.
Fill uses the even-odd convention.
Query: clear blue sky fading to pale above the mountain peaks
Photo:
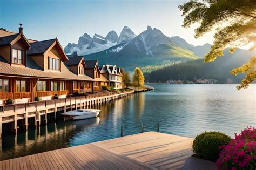
[[[212,43],[212,33],[194,39],[195,26],[181,27],[183,18],[178,5],[185,1],[0,0],[0,28],[17,32],[22,23],[27,38],[45,40],[57,36],[63,47],[77,43],[85,32],[105,37],[111,30],[119,35],[123,26],[129,26],[138,35],[147,25],[193,45]]]

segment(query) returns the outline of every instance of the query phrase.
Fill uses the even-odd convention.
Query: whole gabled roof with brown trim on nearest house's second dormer
[[[28,51],[28,55],[36,55],[44,53],[50,50],[53,46],[57,45],[59,52],[62,54],[62,59],[64,62],[68,61],[68,57],[66,56],[62,46],[60,45],[57,38],[43,40],[40,42],[31,43],[31,49]]]

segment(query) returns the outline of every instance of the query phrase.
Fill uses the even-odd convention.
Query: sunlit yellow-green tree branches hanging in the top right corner
[[[215,29],[214,42],[210,52],[205,55],[205,62],[213,62],[218,56],[223,56],[226,47],[231,46],[234,52],[238,46],[252,44],[250,50],[256,49],[256,2],[255,0],[236,1],[197,1],[191,0],[179,6],[183,12],[185,28],[199,23],[195,37],[203,36]],[[242,57],[242,56],[241,56]],[[240,88],[248,87],[256,79],[256,61],[251,60],[247,66],[234,69],[231,73],[247,73]]]

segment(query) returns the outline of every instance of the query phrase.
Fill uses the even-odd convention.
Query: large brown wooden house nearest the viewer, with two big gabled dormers
[[[83,83],[93,92],[91,77],[74,73],[66,66],[69,59],[57,38],[26,39],[21,26],[19,33],[0,30],[0,36],[0,100],[25,103],[35,97],[49,100],[55,94],[62,98],[73,94]],[[79,64],[85,66],[83,62]]]

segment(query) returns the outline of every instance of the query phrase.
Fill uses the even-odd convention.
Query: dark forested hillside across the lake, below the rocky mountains
[[[224,53],[225,56],[217,58],[215,62],[204,63],[203,59],[198,59],[144,73],[145,80],[150,83],[165,83],[167,80],[193,81],[196,78],[202,78],[215,79],[217,83],[226,83],[227,79],[232,83],[239,83],[244,75],[233,76],[230,70],[242,63],[247,63],[253,52],[239,49],[230,54],[227,49]],[[241,53],[244,54],[243,58],[240,57]]]

